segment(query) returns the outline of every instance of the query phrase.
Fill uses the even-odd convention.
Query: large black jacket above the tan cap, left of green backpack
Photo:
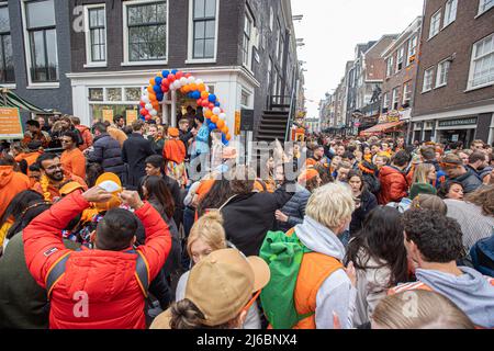
[[[266,234],[276,228],[274,212],[285,203],[282,190],[237,195],[222,210],[226,239],[245,256],[258,256]]]

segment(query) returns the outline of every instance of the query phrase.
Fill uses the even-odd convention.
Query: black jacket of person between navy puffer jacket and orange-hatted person
[[[146,158],[155,155],[153,145],[144,136],[133,133],[122,148],[122,160],[127,165],[130,188],[137,189],[141,178],[146,176]]]

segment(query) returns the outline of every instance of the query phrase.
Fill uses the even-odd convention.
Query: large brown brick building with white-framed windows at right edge
[[[494,1],[427,0],[414,140],[494,140]]]

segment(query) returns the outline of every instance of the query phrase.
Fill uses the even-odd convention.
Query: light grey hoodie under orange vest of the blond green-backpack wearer
[[[345,247],[338,237],[313,218],[305,216],[301,225],[295,226],[299,239],[314,252],[345,258]],[[339,317],[341,328],[352,328],[352,318],[357,290],[344,270],[330,274],[321,285],[316,296],[315,321],[317,329],[334,329],[333,313]]]

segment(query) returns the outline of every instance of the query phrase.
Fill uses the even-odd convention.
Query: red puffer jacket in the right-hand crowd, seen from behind
[[[408,195],[408,182],[406,176],[398,169],[385,166],[379,171],[379,181],[381,191],[378,195],[380,205],[386,205],[390,202],[401,202]]]

